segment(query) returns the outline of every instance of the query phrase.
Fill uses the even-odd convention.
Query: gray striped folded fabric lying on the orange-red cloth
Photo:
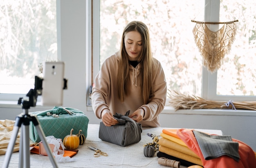
[[[238,142],[233,142],[230,136],[208,135],[195,130],[193,133],[205,160],[227,155],[239,161]]]

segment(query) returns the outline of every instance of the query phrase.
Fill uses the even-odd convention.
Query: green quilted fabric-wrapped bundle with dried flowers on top
[[[82,130],[85,138],[87,137],[89,118],[79,109],[58,106],[29,114],[37,116],[46,137],[52,135],[63,140],[66,135],[70,134],[71,129],[74,129],[75,134]],[[41,141],[33,122],[29,124],[29,137],[33,142]]]

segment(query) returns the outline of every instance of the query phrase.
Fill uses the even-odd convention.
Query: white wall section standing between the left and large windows
[[[86,59],[86,0],[57,0],[58,57],[65,62],[65,78],[68,89],[64,90],[63,107],[74,107],[85,111],[90,123],[99,123],[93,111],[87,111],[90,64]],[[89,107],[89,109],[91,109]],[[86,112],[87,111],[87,112]]]

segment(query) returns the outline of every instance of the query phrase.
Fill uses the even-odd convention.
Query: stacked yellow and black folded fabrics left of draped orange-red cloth
[[[157,157],[180,161],[182,166],[200,165],[202,161],[176,134],[177,129],[163,129],[160,133]]]

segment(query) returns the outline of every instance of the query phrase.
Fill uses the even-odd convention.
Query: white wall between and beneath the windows
[[[57,0],[60,4],[58,17],[58,57],[65,61],[65,78],[68,89],[64,90],[63,107],[84,111],[90,124],[99,124],[90,107],[86,106],[89,77],[86,59],[86,0]],[[37,105],[29,112],[43,111],[52,107]],[[0,105],[0,120],[15,120],[22,112],[18,105]],[[256,151],[255,111],[180,110],[166,108],[160,114],[162,127],[218,129],[224,135],[241,140]]]

